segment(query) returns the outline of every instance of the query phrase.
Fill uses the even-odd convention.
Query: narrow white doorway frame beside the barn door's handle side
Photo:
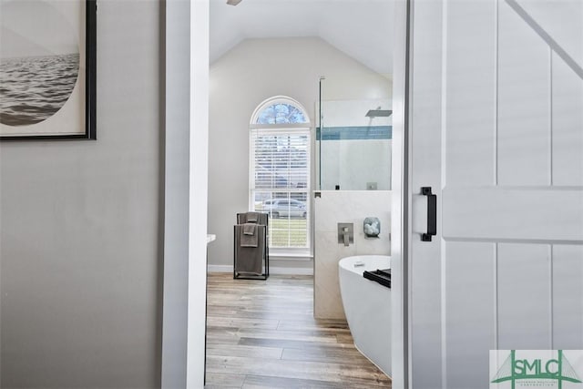
[[[410,68],[413,0],[395,0],[393,51],[393,201],[391,210],[391,271],[392,278],[392,372],[393,388],[409,388],[411,384],[410,333],[410,237],[411,230],[411,149]]]

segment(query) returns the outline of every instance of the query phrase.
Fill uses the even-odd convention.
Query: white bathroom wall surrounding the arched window
[[[314,104],[321,76],[351,76],[331,91],[335,99],[386,97],[387,78],[320,38],[250,39],[210,67],[209,263],[232,265],[233,224],[249,207],[249,121],[268,97],[285,95],[306,108],[315,127]],[[271,257],[273,259],[273,257]],[[273,267],[312,268],[311,261],[277,261]]]

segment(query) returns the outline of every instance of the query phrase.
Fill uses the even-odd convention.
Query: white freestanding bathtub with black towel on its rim
[[[360,255],[338,262],[344,313],[354,345],[384,374],[391,375],[391,289],[363,277],[390,269],[391,257]]]

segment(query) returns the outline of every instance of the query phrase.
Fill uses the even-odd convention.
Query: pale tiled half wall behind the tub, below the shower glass
[[[338,261],[366,254],[390,255],[390,190],[319,190],[314,198],[314,315],[318,319],[343,319],[338,282]],[[381,220],[378,239],[364,237],[366,217]],[[354,224],[354,243],[338,243],[338,223]]]

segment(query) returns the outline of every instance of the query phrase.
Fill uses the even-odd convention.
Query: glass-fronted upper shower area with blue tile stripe
[[[316,189],[391,189],[392,85],[375,77],[320,78]]]

